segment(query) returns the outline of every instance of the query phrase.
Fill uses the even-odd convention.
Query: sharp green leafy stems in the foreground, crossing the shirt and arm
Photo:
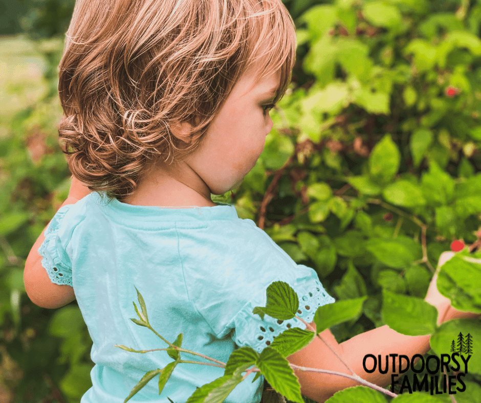
[[[477,254],[477,257],[480,257],[481,254]],[[457,293],[457,290],[462,287],[462,283],[467,284],[465,279],[470,278],[471,283],[467,285],[467,287],[463,288],[470,288],[470,289],[480,289],[481,288],[481,259],[474,260],[472,257],[467,257],[467,253],[461,253],[456,257],[453,257],[454,261],[451,260],[447,263],[442,264],[441,273],[446,273],[450,267],[456,267],[458,272],[458,278],[462,279],[460,283],[452,282],[449,286],[445,287],[446,295],[451,293]],[[445,267],[446,266],[446,267]],[[473,276],[474,272],[474,276]],[[473,281],[474,280],[474,281]],[[136,288],[137,289],[137,288]],[[387,292],[389,293],[389,292]],[[144,299],[142,295],[137,290],[137,295],[139,299],[139,304],[141,306],[142,314],[140,314],[137,305],[134,302],[135,311],[139,319],[130,319],[134,323],[139,326],[145,326],[152,330],[160,339],[166,342],[169,345],[169,348],[160,348],[160,349],[151,349],[151,350],[134,350],[132,348],[123,346],[123,345],[115,345],[114,347],[122,348],[123,350],[130,351],[130,352],[137,352],[137,353],[147,353],[151,351],[159,351],[159,350],[166,350],[169,356],[174,360],[173,362],[167,364],[163,369],[156,369],[148,371],[139,383],[134,386],[132,391],[129,395],[125,398],[124,403],[126,403],[130,398],[132,398],[139,390],[141,390],[147,383],[154,378],[156,375],[159,375],[159,395],[162,393],[165,384],[167,383],[170,375],[174,368],[180,363],[192,363],[192,361],[185,361],[181,360],[181,352],[199,355],[196,352],[182,349],[182,339],[183,333],[180,333],[177,337],[177,340],[174,343],[169,343],[165,340],[160,334],[158,334],[150,325],[147,317],[147,307],[145,306]],[[479,298],[479,293],[475,295],[475,298]],[[314,323],[316,328],[312,328],[308,323],[304,322],[308,329],[303,330],[300,328],[290,328],[275,338],[274,342],[271,343],[269,346],[265,347],[261,353],[257,353],[254,349],[249,346],[238,348],[234,350],[229,360],[226,364],[222,364],[224,370],[224,375],[213,380],[211,383],[202,386],[195,390],[195,392],[187,399],[187,403],[223,403],[224,399],[232,392],[232,390],[241,383],[247,375],[251,372],[257,372],[256,376],[260,374],[264,375],[266,380],[272,386],[272,388],[281,396],[291,399],[290,401],[294,401],[297,403],[304,403],[302,395],[300,393],[300,384],[297,376],[294,374],[292,364],[289,364],[287,361],[287,357],[296,351],[304,348],[308,344],[310,344],[314,337],[318,337],[322,340],[327,346],[326,343],[320,333],[322,333],[325,329],[327,329],[328,325],[334,325],[337,323],[345,322],[347,320],[355,319],[359,315],[359,311],[361,310],[362,302],[365,300],[365,297],[361,299],[351,299],[345,301],[338,301],[334,304],[329,304],[326,306],[320,306],[317,308],[316,313],[314,315]],[[430,326],[421,327],[419,326],[420,318],[423,317],[422,309],[426,309],[429,307],[430,309],[425,312],[425,319],[427,320]],[[477,307],[471,303],[469,306],[464,306],[465,309],[469,311],[476,311]],[[299,309],[299,299],[297,294],[295,293],[294,289],[290,287],[290,285],[283,281],[275,281],[271,283],[267,288],[267,302],[266,306],[256,306],[253,309],[253,313],[259,315],[262,319],[264,319],[265,315],[269,315],[274,319],[279,320],[289,320],[294,317],[298,318],[295,314]],[[386,311],[386,323],[389,327],[393,330],[397,330],[403,334],[408,335],[423,335],[423,334],[430,334],[431,337],[431,346],[435,351],[438,352],[439,355],[443,354],[442,351],[446,351],[446,346],[449,345],[449,341],[456,338],[456,334],[458,331],[468,331],[468,338],[471,339],[479,339],[481,338],[481,323],[479,320],[453,320],[446,323],[443,323],[441,326],[436,325],[436,319],[438,318],[438,311],[432,305],[429,305],[427,302],[423,300],[419,300],[413,297],[406,297],[399,294],[391,294],[389,296],[389,304],[383,307],[383,310]],[[479,312],[481,310],[478,309]],[[393,312],[396,312],[397,315],[392,315]],[[333,314],[332,316],[330,314]],[[327,317],[327,318],[326,318]],[[335,319],[334,319],[335,318]],[[326,325],[327,321],[327,325]],[[462,332],[459,333],[460,344],[463,345],[463,334]],[[332,348],[331,348],[332,350]],[[463,362],[467,364],[469,362],[470,365],[470,372],[481,375],[481,354],[474,354],[472,351],[467,352],[463,347],[460,350],[461,353],[466,353],[466,360],[464,356],[462,356]],[[445,353],[444,353],[445,354]],[[342,360],[342,357],[339,356],[337,353],[339,360]],[[397,355],[397,354],[396,354]],[[442,355],[441,355],[442,356]],[[373,355],[374,357],[374,355]],[[406,357],[409,362],[410,357]],[[211,357],[205,357],[209,360],[212,360]],[[472,360],[471,360],[472,359]],[[379,360],[381,360],[381,356],[379,356]],[[215,361],[215,360],[212,360]],[[400,361],[401,362],[401,361]],[[205,364],[202,362],[196,362],[198,364]],[[345,364],[345,363],[344,363]],[[210,365],[210,364],[205,364]],[[401,364],[399,364],[401,366]],[[379,403],[385,402],[386,400],[379,392],[375,392],[374,390],[383,392],[391,397],[396,397],[395,401],[398,400],[398,397],[401,395],[396,395],[388,390],[379,388],[377,385],[374,385],[367,380],[360,378],[351,368],[348,367],[347,364],[345,366],[352,372],[352,375],[347,375],[347,377],[356,380],[357,382],[366,385],[372,390],[363,389],[359,387],[352,387],[348,388],[343,391],[339,391],[334,394],[334,396],[327,400],[328,403],[348,403],[350,401],[366,401],[373,402],[377,401]],[[302,368],[302,367],[301,367]],[[379,367],[380,368],[380,367]],[[407,367],[409,368],[409,366]],[[463,372],[463,376],[468,373],[467,365],[465,365],[466,369],[461,371]],[[427,364],[426,364],[427,369]],[[461,369],[458,368],[458,369]],[[341,376],[346,376],[345,374],[340,374],[338,372],[331,371],[326,368],[318,369],[318,368],[304,368],[303,371],[315,371],[315,372],[324,372],[330,374],[339,374]],[[439,367],[438,367],[439,371]],[[453,371],[455,371],[453,369]],[[241,373],[246,372],[245,376],[242,377]],[[402,372],[401,367],[399,370],[394,370],[393,372]],[[403,371],[405,372],[405,371]],[[418,371],[421,372],[421,371]],[[437,371],[436,371],[437,372]],[[429,372],[431,373],[431,372]],[[437,372],[438,376],[442,375],[441,372]],[[455,378],[455,376],[452,376]],[[431,380],[432,383],[432,380]],[[404,388],[405,382],[403,380],[403,384],[401,388]],[[451,386],[449,386],[451,393]],[[419,389],[422,389],[421,387]],[[422,393],[421,391],[417,391],[416,389],[411,390],[409,386],[409,397],[406,395],[401,396],[401,401],[406,402],[422,402],[426,399],[426,394]],[[432,389],[431,389],[432,390]],[[441,390],[442,387],[441,387]],[[427,391],[427,389],[426,389]],[[438,391],[438,387],[436,386],[436,394]],[[456,390],[454,392],[457,394]],[[471,393],[472,390],[469,391]],[[412,394],[411,394],[412,393]],[[446,392],[445,392],[446,393]],[[442,394],[442,393],[441,393]],[[431,393],[432,395],[432,393]],[[428,397],[429,398],[429,397]],[[169,399],[170,400],[170,399]],[[440,401],[437,398],[432,398],[432,402],[435,403],[436,401]]]

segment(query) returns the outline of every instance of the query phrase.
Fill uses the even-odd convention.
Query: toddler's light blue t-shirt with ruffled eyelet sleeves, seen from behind
[[[184,333],[182,347],[226,363],[242,346],[260,352],[288,327],[305,329],[294,318],[261,320],[252,314],[265,306],[266,288],[285,281],[299,297],[297,315],[313,321],[318,306],[334,302],[316,272],[296,264],[234,206],[159,208],[107,204],[97,192],[58,210],[38,252],[56,284],[73,286],[93,341],[92,388],[81,403],[123,403],[150,370],[173,360],[166,351],[127,352],[168,345],[138,319],[137,291],[145,300],[150,325],[170,342]],[[134,287],[135,286],[135,287]],[[181,353],[182,360],[212,363]],[[178,364],[159,396],[156,375],[130,401],[185,403],[196,387],[224,375],[224,369]],[[226,403],[260,401],[264,377],[251,373]]]

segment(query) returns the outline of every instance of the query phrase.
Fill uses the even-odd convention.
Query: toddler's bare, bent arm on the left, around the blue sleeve
[[[68,204],[75,204],[89,193],[91,193],[89,188],[83,186],[73,177],[69,196],[61,207]],[[25,262],[25,290],[35,305],[41,306],[42,308],[60,308],[75,299],[74,289],[70,285],[52,283],[47,271],[41,265],[42,257],[38,253],[38,248],[40,248],[40,245],[45,240],[43,232],[45,232],[45,228],[34,243]]]

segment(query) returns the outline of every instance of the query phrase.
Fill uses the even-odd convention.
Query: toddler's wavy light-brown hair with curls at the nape
[[[182,161],[246,72],[280,77],[295,29],[281,0],[77,0],[60,62],[59,136],[72,173],[122,200],[152,161]],[[187,122],[184,138],[172,128]]]

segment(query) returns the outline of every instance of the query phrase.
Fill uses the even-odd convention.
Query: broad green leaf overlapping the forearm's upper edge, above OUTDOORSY
[[[438,310],[420,298],[393,294],[383,290],[382,316],[386,325],[410,336],[432,334]]]

